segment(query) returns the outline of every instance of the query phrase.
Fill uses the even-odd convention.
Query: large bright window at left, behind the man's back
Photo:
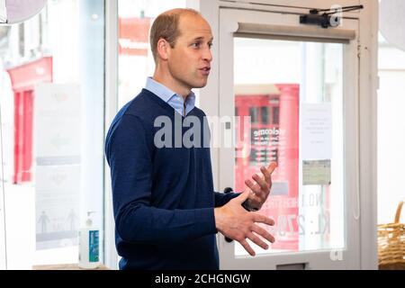
[[[76,263],[86,211],[103,230],[104,3],[49,1],[0,46],[7,268]]]

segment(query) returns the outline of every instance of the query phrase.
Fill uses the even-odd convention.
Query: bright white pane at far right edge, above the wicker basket
[[[378,68],[378,223],[382,224],[393,221],[398,202],[405,200],[405,51],[382,37]]]

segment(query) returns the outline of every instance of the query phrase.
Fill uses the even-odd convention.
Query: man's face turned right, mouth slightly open
[[[211,69],[212,33],[200,16],[184,14],[179,20],[180,36],[168,51],[167,65],[175,85],[191,90],[207,85]]]

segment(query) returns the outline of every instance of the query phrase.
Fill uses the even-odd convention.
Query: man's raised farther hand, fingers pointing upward
[[[260,167],[260,171],[262,172],[263,176],[257,174],[252,176],[252,179],[255,180],[256,184],[250,179],[245,180],[247,189],[250,190],[250,194],[247,199],[247,206],[249,208],[259,210],[266,202],[272,187],[272,173],[275,171],[276,166],[277,164],[272,162],[267,167]]]

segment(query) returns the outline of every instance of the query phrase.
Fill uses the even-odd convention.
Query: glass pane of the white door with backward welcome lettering
[[[252,122],[243,143],[250,154],[236,156],[235,190],[242,191],[259,166],[277,162],[274,197],[260,210],[275,219],[277,240],[269,250],[254,249],[271,254],[345,247],[344,46],[250,37],[235,37],[233,45],[234,103]],[[247,255],[235,244],[234,257]]]

